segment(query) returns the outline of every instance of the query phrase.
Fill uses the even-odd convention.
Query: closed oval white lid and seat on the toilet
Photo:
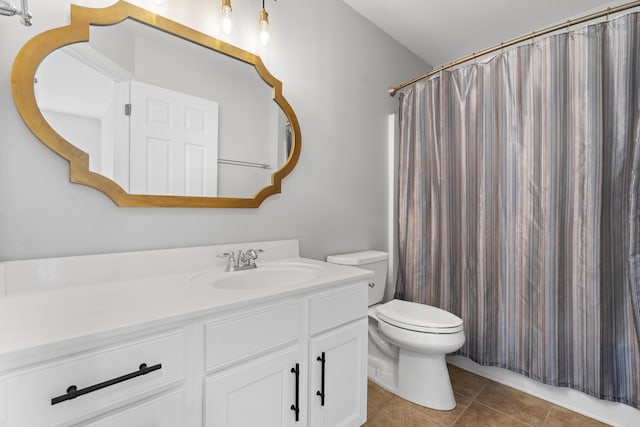
[[[448,311],[395,299],[378,306],[378,317],[391,325],[417,332],[453,334],[463,329],[462,319]]]

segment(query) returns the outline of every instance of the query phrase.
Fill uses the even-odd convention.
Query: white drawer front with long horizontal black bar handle
[[[143,363],[149,372],[135,375]],[[78,422],[176,383],[184,379],[184,372],[182,330],[38,365],[3,378],[6,423],[37,427]],[[116,379],[122,381],[107,383]],[[64,400],[70,386],[81,395]],[[97,390],[82,394],[92,386]],[[53,404],[54,400],[62,401]]]

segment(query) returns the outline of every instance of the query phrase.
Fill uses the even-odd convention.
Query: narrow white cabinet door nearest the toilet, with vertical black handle
[[[360,426],[366,421],[367,325],[367,319],[360,319],[311,339],[311,426]]]

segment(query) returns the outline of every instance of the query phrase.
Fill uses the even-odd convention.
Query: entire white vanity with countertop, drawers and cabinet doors
[[[371,273],[277,247],[251,276],[209,266],[226,247],[5,263],[7,289],[70,285],[0,296],[0,427],[362,425]]]

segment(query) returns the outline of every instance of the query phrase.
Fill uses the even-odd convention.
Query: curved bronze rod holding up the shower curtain
[[[601,10],[600,12],[592,13],[590,15],[583,16],[582,18],[570,19],[567,22],[564,22],[562,24],[557,24],[557,25],[554,25],[552,27],[547,27],[547,28],[545,28],[543,30],[534,31],[531,34],[526,34],[524,36],[517,37],[517,38],[515,38],[513,40],[509,40],[508,42],[500,43],[499,45],[495,45],[495,46],[490,47],[488,49],[485,49],[483,51],[476,52],[476,53],[473,53],[471,55],[467,55],[467,56],[465,56],[463,58],[458,59],[457,61],[453,61],[453,62],[451,62],[451,63],[449,63],[447,65],[443,65],[443,66],[441,66],[439,68],[436,68],[435,70],[431,70],[431,71],[429,71],[429,72],[427,72],[425,74],[422,74],[422,75],[420,75],[420,76],[418,76],[418,77],[416,77],[416,78],[414,78],[412,80],[409,80],[409,81],[406,81],[406,82],[404,82],[402,84],[399,84],[398,86],[392,86],[392,87],[389,88],[389,95],[390,96],[394,96],[396,94],[396,92],[399,91],[400,89],[403,89],[403,88],[405,88],[405,87],[407,87],[409,85],[412,85],[412,84],[414,84],[414,83],[416,83],[416,82],[418,82],[418,81],[420,81],[422,79],[426,79],[427,77],[431,77],[434,74],[439,73],[440,71],[446,70],[446,69],[451,68],[451,67],[455,67],[456,65],[460,65],[460,64],[465,63],[467,61],[471,61],[472,59],[476,59],[476,58],[479,58],[481,56],[488,55],[488,54],[493,53],[493,52],[497,52],[499,50],[504,49],[505,47],[513,46],[514,44],[522,43],[524,41],[533,39],[535,37],[544,36],[545,34],[553,33],[555,31],[562,30],[563,28],[569,28],[572,25],[582,24],[583,22],[591,21],[593,19],[598,19],[598,18],[601,18],[603,16],[611,15],[613,13],[622,12],[624,10],[632,9],[632,8],[638,7],[638,6],[640,6],[640,0],[632,1],[630,3],[621,4],[620,6],[616,6],[616,7],[608,7],[607,9]]]

